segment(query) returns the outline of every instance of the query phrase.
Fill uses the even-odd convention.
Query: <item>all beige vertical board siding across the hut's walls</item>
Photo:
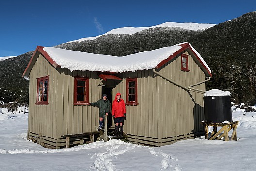
[[[205,80],[205,74],[188,51],[190,72],[181,71],[181,54],[162,66],[158,72],[185,87]],[[49,75],[49,105],[35,105],[37,79]],[[28,131],[45,137],[61,138],[66,134],[95,131],[99,109],[86,105],[73,105],[74,76],[89,78],[89,102],[101,99],[101,86],[96,72],[54,68],[40,54],[30,73]],[[153,69],[120,74],[121,82],[112,80],[112,101],[117,92],[126,101],[126,78],[137,78],[137,106],[126,106],[127,134],[150,138],[166,138],[202,131],[204,120],[203,94],[187,92],[157,76]],[[107,84],[107,83],[106,83]],[[193,88],[205,90],[205,84]],[[112,102],[111,102],[112,103]]]

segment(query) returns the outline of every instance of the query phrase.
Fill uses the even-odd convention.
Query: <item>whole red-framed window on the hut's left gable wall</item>
[[[37,78],[37,100],[36,104],[48,105],[49,76]]]

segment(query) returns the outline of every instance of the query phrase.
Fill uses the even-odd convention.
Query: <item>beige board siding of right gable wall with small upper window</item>
[[[183,53],[189,55],[189,70],[190,72],[181,71],[181,56],[177,56],[168,65],[162,66],[159,73],[168,77],[169,79],[175,81],[176,83],[183,85],[185,87],[193,85],[200,81],[205,80],[205,74],[196,64],[188,52],[183,51]],[[168,74],[169,73],[169,74]],[[172,74],[170,74],[172,73]],[[199,122],[203,120],[203,94],[195,92],[187,92],[186,90],[164,80],[159,77],[158,81],[158,90],[162,89],[165,91],[165,96],[163,98],[158,98],[158,101],[162,104],[166,101],[175,101],[174,106],[172,105],[158,105],[158,114],[162,115],[161,118],[165,120],[173,120],[169,126],[170,129],[166,129],[168,124],[163,124],[163,129],[160,131],[163,134],[159,134],[159,138],[172,137],[176,135],[183,135],[195,131],[202,130]],[[205,84],[197,85],[194,88],[205,90]],[[190,95],[191,94],[191,95]],[[158,94],[162,96],[161,93]],[[168,97],[172,97],[172,100],[169,100]],[[165,103],[166,104],[166,103]],[[168,107],[166,110],[164,107]],[[162,110],[163,109],[163,110]],[[164,110],[165,109],[165,110]],[[166,112],[169,111],[169,112]],[[161,124],[159,120],[158,124]],[[168,126],[167,126],[168,127]],[[166,130],[172,130],[166,132]]]

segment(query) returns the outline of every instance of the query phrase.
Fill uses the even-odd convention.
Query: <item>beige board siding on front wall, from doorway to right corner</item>
[[[126,101],[125,78],[137,78],[139,103],[138,106],[126,106],[124,131],[132,135],[157,138],[157,81],[153,78],[153,70],[126,72],[122,76],[122,82],[112,90],[113,97],[120,92]]]

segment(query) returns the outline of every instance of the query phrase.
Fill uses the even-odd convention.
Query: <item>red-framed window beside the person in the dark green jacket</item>
[[[89,78],[75,77],[74,79],[74,104],[84,105],[89,102]]]

